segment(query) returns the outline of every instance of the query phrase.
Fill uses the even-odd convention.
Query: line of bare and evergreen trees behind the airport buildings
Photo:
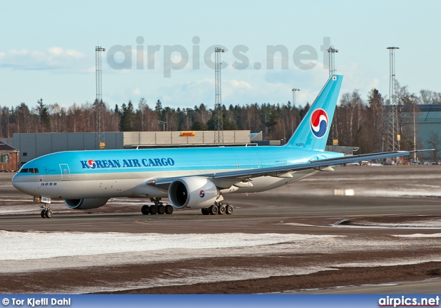
[[[418,112],[418,105],[441,104],[441,93],[421,90],[419,94],[410,94],[406,86],[398,84],[395,102],[399,106],[400,150],[413,150],[413,119],[409,114]],[[103,110],[105,132],[214,130],[217,116],[217,112],[203,103],[192,108],[175,109],[163,106],[159,100],[149,105],[145,99],[140,99],[138,107],[132,101],[114,108],[98,101],[64,107],[59,103],[45,104],[39,99],[32,108],[26,103],[15,107],[0,106],[0,138],[11,138],[14,133],[95,132],[98,107]],[[267,140],[287,141],[309,107],[309,103],[295,106],[290,101],[223,105],[223,128],[263,131]],[[367,99],[363,99],[357,90],[342,94],[329,138],[336,138],[338,145],[360,147],[358,153],[387,150],[387,117],[384,115],[388,108],[389,99],[376,89],[369,92]],[[404,109],[407,112],[402,112]],[[439,136],[433,136],[433,139],[437,137],[439,139]],[[424,142],[429,146],[428,141]]]

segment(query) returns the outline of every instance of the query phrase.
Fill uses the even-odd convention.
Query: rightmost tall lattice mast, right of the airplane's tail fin
[[[389,50],[389,108],[387,108],[387,151],[400,150],[400,125],[398,123],[398,105],[396,102],[395,50],[398,47],[388,47]]]

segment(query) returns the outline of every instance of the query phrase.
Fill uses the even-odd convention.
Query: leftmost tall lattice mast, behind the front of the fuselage
[[[95,64],[96,64],[96,99],[95,99],[95,148],[99,150],[105,150],[104,139],[104,103],[103,103],[103,76],[101,70],[101,52],[105,51],[105,48],[101,46],[95,47]]]

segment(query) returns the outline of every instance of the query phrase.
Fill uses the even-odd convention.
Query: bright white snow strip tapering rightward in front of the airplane
[[[164,249],[256,247],[334,238],[304,234],[127,234],[0,231],[0,260],[114,254]]]

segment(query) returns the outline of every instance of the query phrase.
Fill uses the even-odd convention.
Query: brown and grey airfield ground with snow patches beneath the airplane
[[[440,290],[441,166],[347,166],[234,214],[114,199],[54,216],[0,174],[1,293],[429,293]],[[415,292],[411,290],[415,289]]]

